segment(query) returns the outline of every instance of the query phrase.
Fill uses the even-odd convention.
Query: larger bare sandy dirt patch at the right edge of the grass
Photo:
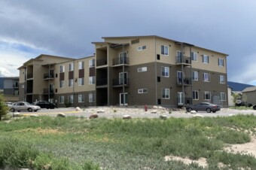
[[[256,137],[251,136],[251,141],[245,144],[232,144],[224,148],[230,153],[250,154],[256,158]]]

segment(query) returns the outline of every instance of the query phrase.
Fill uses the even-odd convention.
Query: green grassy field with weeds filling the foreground
[[[167,120],[26,117],[0,122],[0,167],[204,169],[164,160],[172,155],[205,157],[205,169],[219,169],[219,162],[227,169],[256,169],[253,156],[223,151],[226,144],[250,141],[246,132],[255,127],[253,115]]]

